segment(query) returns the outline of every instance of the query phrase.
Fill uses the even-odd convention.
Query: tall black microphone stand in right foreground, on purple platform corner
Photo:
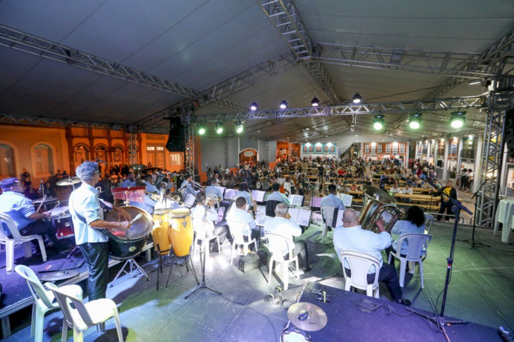
[[[430,183],[430,185],[432,185],[432,187],[438,189],[437,186],[434,184],[433,179],[427,177],[426,180]],[[440,310],[440,313],[439,313],[439,317],[429,316],[427,314],[420,313],[420,312],[418,312],[418,311],[416,311],[416,310],[414,310],[414,309],[412,309],[410,307],[406,308],[406,310],[412,312],[413,314],[416,314],[418,316],[424,317],[424,318],[429,319],[432,322],[434,322],[437,325],[437,327],[444,333],[446,339],[449,341],[450,338],[446,334],[445,326],[450,326],[450,325],[454,325],[454,324],[467,324],[468,323],[465,320],[447,320],[445,318],[445,307],[446,307],[446,297],[448,295],[448,286],[450,284],[450,277],[451,277],[451,271],[452,271],[452,265],[453,265],[453,253],[455,252],[455,241],[456,241],[456,237],[457,237],[458,220],[459,220],[459,217],[460,217],[460,214],[461,214],[461,210],[464,210],[466,213],[468,213],[470,215],[473,215],[473,213],[471,213],[468,210],[468,208],[466,208],[459,200],[457,200],[455,198],[451,198],[450,196],[446,195],[444,192],[442,192],[442,193],[455,206],[455,222],[453,223],[453,235],[452,235],[451,246],[450,246],[450,255],[446,259],[446,261],[447,261],[446,279],[445,279],[445,287],[443,289],[443,301],[441,303],[441,310]]]

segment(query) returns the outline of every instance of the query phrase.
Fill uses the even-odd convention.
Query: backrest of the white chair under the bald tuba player
[[[380,270],[380,261],[373,255],[362,253],[358,251],[342,250],[341,251],[341,263],[344,268],[344,260],[348,261],[350,265],[350,272],[352,272],[352,282],[361,288],[368,286],[368,271],[375,265],[375,280],[373,281],[373,287],[378,284],[378,272]],[[344,272],[346,275],[346,272]]]

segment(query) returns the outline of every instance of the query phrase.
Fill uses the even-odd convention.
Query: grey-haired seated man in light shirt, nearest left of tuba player
[[[277,207],[275,208],[275,217],[266,220],[264,223],[264,234],[277,234],[291,240],[293,240],[293,237],[300,236],[302,234],[302,229],[291,219],[287,210],[288,207],[286,204],[277,204]],[[284,256],[286,255],[289,256],[287,248],[284,249]],[[304,273],[313,268],[313,265],[309,264],[307,244],[304,240],[295,241],[295,249],[293,250],[292,255],[298,255],[298,263]]]

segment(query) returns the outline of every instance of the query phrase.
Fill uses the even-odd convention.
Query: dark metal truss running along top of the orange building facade
[[[98,129],[113,129],[113,130],[132,130],[132,126],[123,126],[118,124],[108,124],[100,122],[89,122],[80,120],[64,120],[64,119],[51,119],[51,118],[39,118],[39,117],[28,117],[28,116],[17,116],[0,114],[1,124],[11,125],[26,125],[26,126],[46,126],[46,127],[87,127],[87,128],[98,128]],[[155,134],[168,134],[169,129],[166,127],[150,126],[141,129],[140,132],[144,133],[155,133]]]

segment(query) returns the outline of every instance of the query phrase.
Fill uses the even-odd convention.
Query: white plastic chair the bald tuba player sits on
[[[350,265],[351,276],[346,275],[344,270],[344,260]],[[366,295],[378,298],[380,291],[378,289],[378,272],[380,270],[380,261],[377,257],[351,250],[341,251],[341,263],[343,265],[344,274],[344,290],[350,291],[350,287],[360,290],[366,290]],[[371,284],[368,283],[368,271],[375,265],[375,279]]]

